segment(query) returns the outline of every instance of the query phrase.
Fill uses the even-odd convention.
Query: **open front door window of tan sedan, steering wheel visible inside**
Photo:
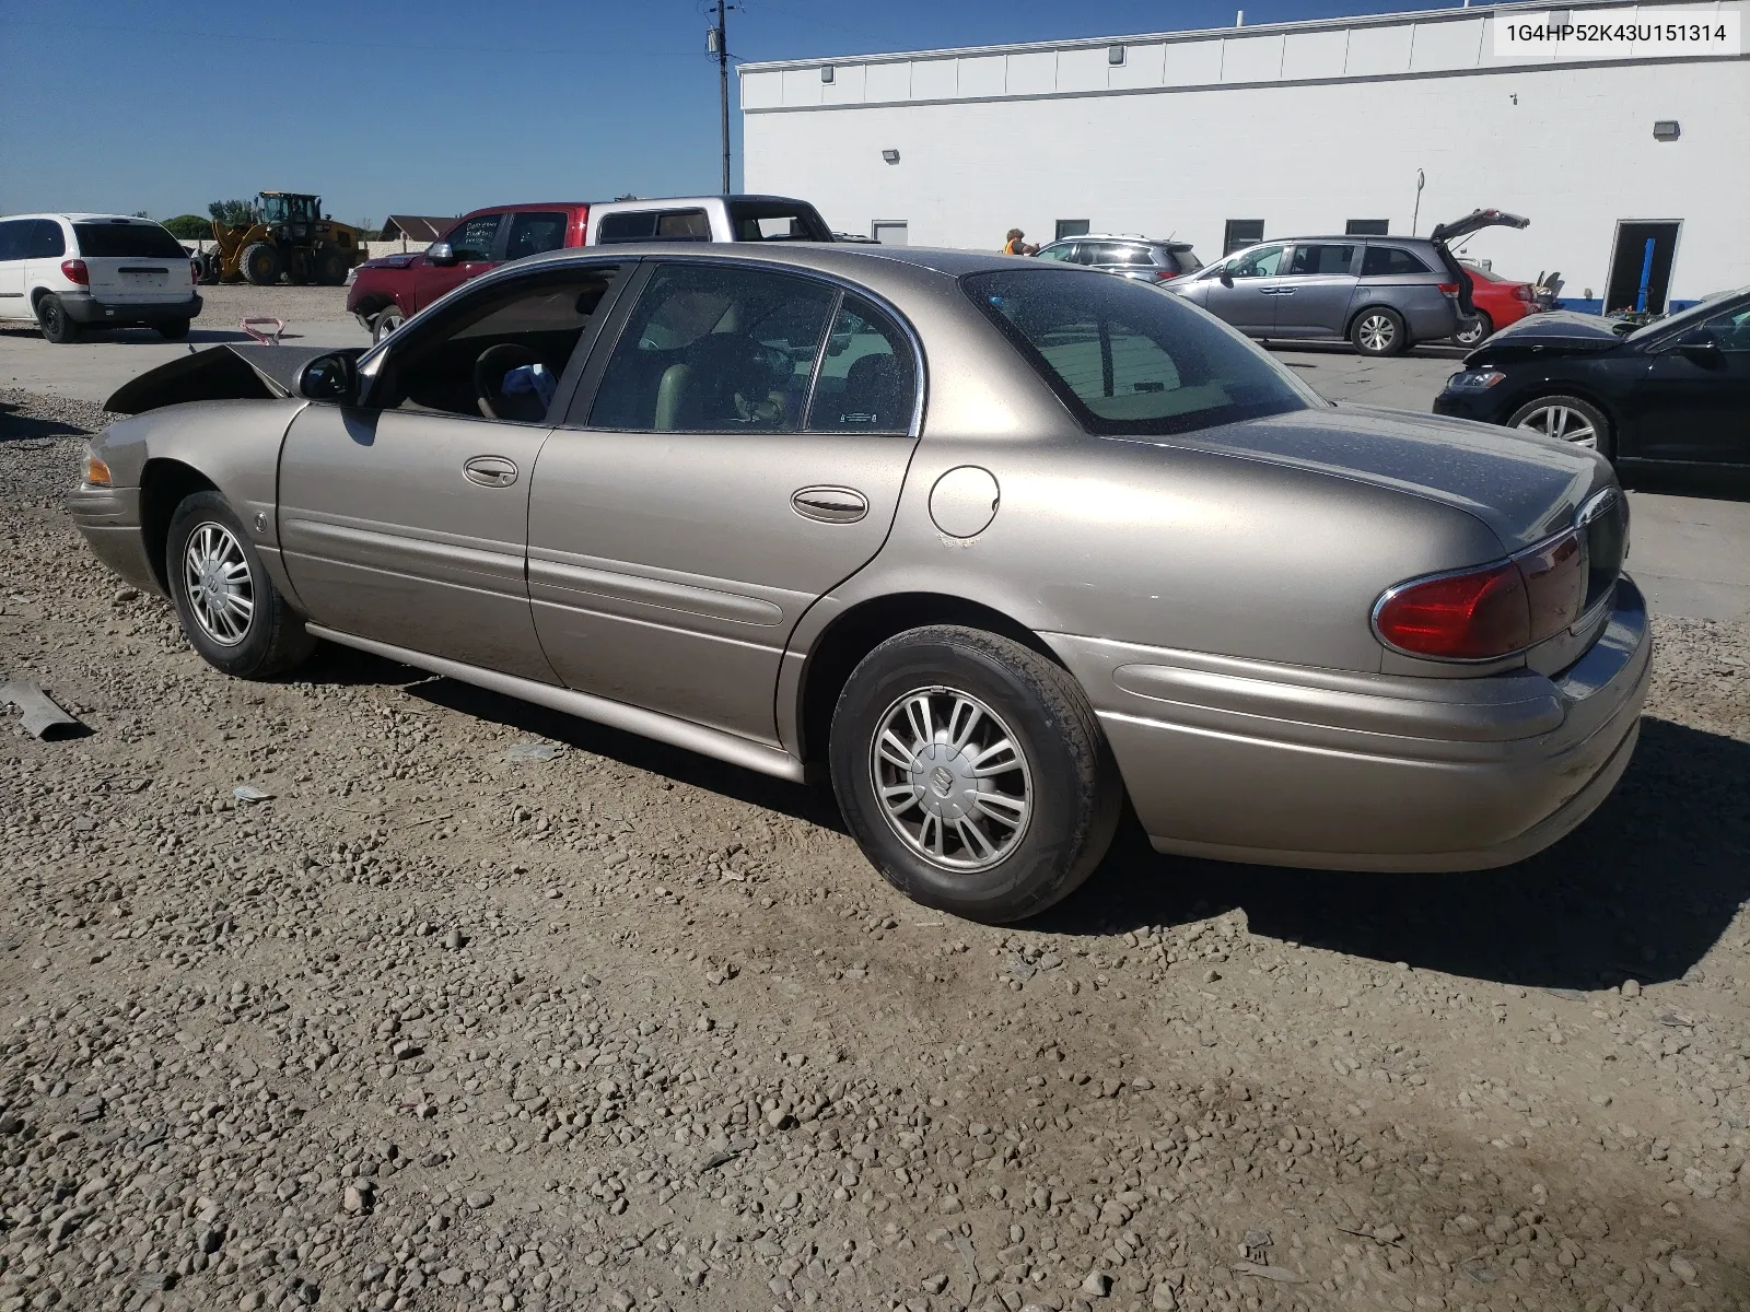
[[[481,287],[397,332],[371,404],[541,423],[616,264]]]

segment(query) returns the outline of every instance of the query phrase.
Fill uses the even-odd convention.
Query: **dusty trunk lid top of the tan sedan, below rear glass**
[[[1482,520],[1505,551],[1573,521],[1610,464],[1524,429],[1339,404],[1185,434],[1176,446],[1391,488]]]

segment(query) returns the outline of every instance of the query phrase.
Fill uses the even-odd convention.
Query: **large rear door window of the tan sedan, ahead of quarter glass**
[[[620,334],[590,427],[794,432],[835,299],[782,273],[662,266]]]

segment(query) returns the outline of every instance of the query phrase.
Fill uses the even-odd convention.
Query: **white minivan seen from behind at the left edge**
[[[144,324],[178,341],[200,311],[189,252],[163,224],[117,213],[0,219],[0,318],[35,320],[49,341]]]

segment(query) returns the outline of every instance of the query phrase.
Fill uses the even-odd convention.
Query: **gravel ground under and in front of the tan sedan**
[[[324,649],[228,680],[0,394],[0,1312],[1750,1309],[1750,630],[1507,871],[924,913],[822,794]],[[250,785],[257,801],[233,792]]]

